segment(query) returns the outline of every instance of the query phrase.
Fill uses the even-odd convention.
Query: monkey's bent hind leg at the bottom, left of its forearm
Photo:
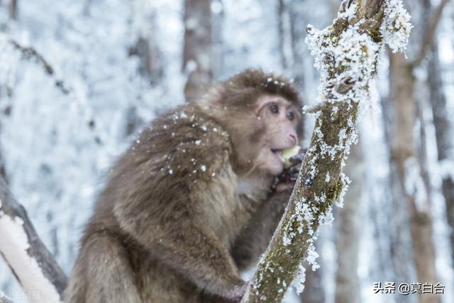
[[[126,250],[107,234],[95,233],[84,243],[72,275],[65,302],[140,302]]]

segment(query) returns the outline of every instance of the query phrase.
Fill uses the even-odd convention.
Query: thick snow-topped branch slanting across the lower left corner
[[[60,302],[67,278],[1,176],[0,239],[0,254],[31,302]]]

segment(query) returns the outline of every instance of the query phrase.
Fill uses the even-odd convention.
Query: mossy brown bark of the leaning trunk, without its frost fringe
[[[344,1],[340,9],[341,13],[352,9],[355,4],[357,4],[356,1]],[[322,43],[321,48],[323,45],[336,45],[341,34],[347,31],[351,24],[357,23],[362,18],[365,18],[365,21],[358,26],[358,33],[367,33],[370,40],[379,45],[383,43],[380,35],[374,33],[377,33],[382,23],[384,1],[358,1],[358,4],[355,16],[337,18],[333,25],[327,28],[328,33],[323,34],[323,40],[317,40]],[[323,33],[325,32],[323,31]],[[312,35],[312,33],[310,34]],[[316,45],[314,48],[317,47]],[[260,260],[258,270],[248,285],[242,302],[262,302],[264,300],[280,302],[282,300],[288,286],[297,275],[301,260],[304,259],[306,251],[311,246],[313,235],[320,222],[323,221],[326,211],[331,209],[331,205],[343,191],[346,181],[341,175],[341,167],[345,152],[350,146],[349,143],[353,141],[358,116],[358,102],[351,100],[336,102],[337,99],[333,97],[335,94],[348,92],[348,89],[343,91],[342,88],[345,89],[347,84],[352,83],[348,79],[341,78],[343,69],[334,66],[333,57],[330,54],[329,52],[323,53],[322,55],[326,57],[318,57],[318,60],[326,64],[324,66],[328,69],[326,75],[328,79],[323,79],[323,83],[330,81],[337,83],[333,88],[333,91],[336,92],[332,91],[332,94],[327,94],[326,102],[316,107],[316,110],[319,111],[316,117],[316,127],[301,166],[297,184],[295,184],[287,209],[272,237],[270,246]],[[374,55],[363,55],[373,56],[375,62],[377,60],[375,53]],[[371,79],[372,75],[373,72],[367,74],[365,79]],[[367,89],[367,85],[361,89]],[[354,92],[358,93],[357,90]],[[333,109],[333,103],[336,103],[336,109]],[[343,136],[339,136],[340,134]],[[336,148],[334,148],[335,146]],[[327,150],[331,150],[331,152]]]

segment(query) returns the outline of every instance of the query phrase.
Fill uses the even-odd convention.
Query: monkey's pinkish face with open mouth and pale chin
[[[255,116],[262,127],[255,166],[267,175],[279,175],[284,170],[282,150],[298,143],[300,114],[283,97],[267,95],[258,99]]]

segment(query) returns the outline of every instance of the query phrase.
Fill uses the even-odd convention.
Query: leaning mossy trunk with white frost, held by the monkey
[[[313,270],[319,267],[314,239],[318,226],[332,221],[331,207],[342,204],[348,187],[341,169],[358,140],[358,104],[370,99],[383,45],[404,50],[409,18],[402,0],[344,0],[331,26],[322,31],[308,26],[306,42],[321,73],[321,103],[297,184],[243,302],[280,302],[291,283],[303,290],[302,260]]]

